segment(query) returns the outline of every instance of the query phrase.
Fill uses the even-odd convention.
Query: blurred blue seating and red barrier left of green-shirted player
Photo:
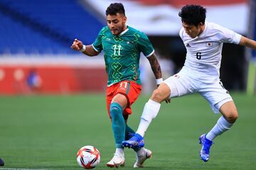
[[[0,1],[0,94],[105,90],[104,62],[70,49],[74,38],[92,43],[104,25],[83,3]]]

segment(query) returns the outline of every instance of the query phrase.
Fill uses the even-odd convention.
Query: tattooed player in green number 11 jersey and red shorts
[[[127,125],[131,105],[141,92],[139,78],[139,57],[142,52],[151,64],[156,77],[156,84],[163,81],[161,68],[149,38],[138,30],[126,26],[124,6],[120,3],[110,4],[106,10],[107,26],[100,30],[92,45],[83,45],[75,39],[71,48],[85,55],[95,56],[104,51],[107,71],[107,111],[112,120],[112,131],[116,151],[107,166],[124,166],[124,147],[122,141],[134,135],[134,130]],[[151,157],[149,149],[134,148],[137,161],[134,167],[142,167],[143,162]]]

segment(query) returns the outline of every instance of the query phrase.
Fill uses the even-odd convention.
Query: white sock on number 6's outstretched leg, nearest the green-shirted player
[[[149,101],[145,104],[142,117],[139,122],[139,128],[137,130],[137,133],[142,137],[144,137],[145,132],[151,123],[151,120],[156,118],[157,113],[159,113],[160,106],[161,103],[152,101],[151,99],[149,99]]]

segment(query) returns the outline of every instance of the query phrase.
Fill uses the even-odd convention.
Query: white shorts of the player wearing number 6
[[[182,69],[178,74],[164,80],[164,83],[171,89],[170,98],[198,92],[206,98],[214,113],[220,113],[220,107],[224,103],[233,101],[218,77],[213,77],[213,81],[206,83],[196,80],[191,77],[190,72]]]

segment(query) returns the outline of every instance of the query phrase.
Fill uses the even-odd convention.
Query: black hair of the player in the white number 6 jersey
[[[198,26],[199,23],[204,24],[206,21],[206,8],[200,5],[186,5],[181,8],[178,16],[183,23]]]

